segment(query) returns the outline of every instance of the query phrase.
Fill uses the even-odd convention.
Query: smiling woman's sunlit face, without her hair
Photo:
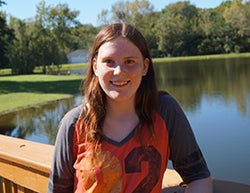
[[[149,60],[128,39],[118,37],[99,48],[93,70],[107,95],[107,100],[134,102]]]

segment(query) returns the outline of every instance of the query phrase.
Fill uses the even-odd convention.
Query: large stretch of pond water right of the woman
[[[178,62],[156,68],[180,102],[212,175],[250,184],[250,58]]]

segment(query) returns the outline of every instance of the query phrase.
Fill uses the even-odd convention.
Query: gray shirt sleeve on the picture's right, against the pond
[[[177,101],[169,94],[162,94],[159,97],[159,113],[169,133],[170,160],[184,183],[209,177],[206,161]]]

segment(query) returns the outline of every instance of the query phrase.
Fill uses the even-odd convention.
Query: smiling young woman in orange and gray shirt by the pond
[[[49,192],[161,192],[168,160],[186,192],[212,192],[210,173],[178,103],[158,92],[142,34],[116,23],[96,36],[84,102],[62,119]]]

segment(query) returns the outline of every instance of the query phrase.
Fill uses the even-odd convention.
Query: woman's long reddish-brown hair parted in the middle
[[[136,93],[135,109],[139,117],[139,126],[136,133],[140,138],[142,125],[148,124],[149,132],[153,136],[152,112],[156,109],[157,87],[152,58],[145,38],[138,29],[126,23],[115,23],[104,27],[96,36],[90,53],[90,65],[83,84],[85,104],[83,105],[82,119],[79,129],[84,132],[85,141],[94,145],[103,139],[103,122],[106,115],[106,95],[99,85],[98,78],[93,71],[93,60],[97,57],[99,48],[105,42],[117,37],[124,37],[139,48],[143,58],[150,61],[148,72],[142,77]]]

